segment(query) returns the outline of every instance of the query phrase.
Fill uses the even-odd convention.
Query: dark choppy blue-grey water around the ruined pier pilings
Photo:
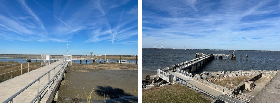
[[[195,58],[195,53],[230,54],[229,51],[142,49],[142,69],[156,71],[169,65]],[[213,59],[200,71],[279,70],[280,52],[235,51],[237,59]],[[240,54],[242,59],[240,60]],[[248,60],[246,60],[246,54]]]

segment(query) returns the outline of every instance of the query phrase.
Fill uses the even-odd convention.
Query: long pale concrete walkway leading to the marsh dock
[[[32,83],[34,80],[38,79],[44,73],[47,73],[49,70],[56,67],[58,64],[60,64],[62,62],[63,62],[63,60],[54,62],[51,65],[41,67],[41,68],[33,70],[29,73],[25,73],[21,76],[17,76],[13,79],[6,80],[6,81],[0,83],[0,103],[7,100],[12,95],[19,92],[21,89],[23,89],[25,86]],[[58,69],[56,68],[55,70],[57,72]],[[53,76],[54,76],[54,70],[52,70],[50,72],[50,79]],[[41,90],[47,83],[48,83],[48,74],[43,76],[40,79],[40,89],[39,90]],[[29,103],[37,95],[37,87],[38,87],[38,82],[34,83],[28,89],[21,92],[21,94],[19,94],[18,96],[16,96],[14,98],[13,102],[14,103]],[[51,88],[54,88],[54,86],[50,87],[50,90],[51,90]],[[44,93],[43,93],[43,95],[44,95]],[[48,97],[43,97],[43,95],[42,95],[42,98],[43,98],[42,100],[44,100],[44,102],[46,102],[46,99]],[[43,103],[43,101],[42,101],[42,103]]]

